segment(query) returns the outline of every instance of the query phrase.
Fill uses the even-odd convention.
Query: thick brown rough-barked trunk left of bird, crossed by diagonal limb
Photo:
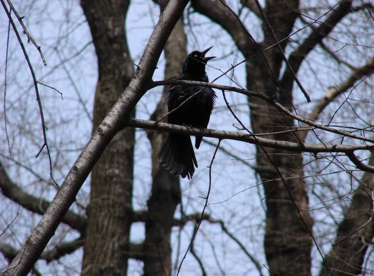
[[[94,132],[134,73],[125,34],[129,1],[81,1],[81,6],[99,65],[93,108]],[[127,274],[127,257],[120,244],[129,242],[134,134],[133,128],[118,132],[92,170],[82,263],[84,275]]]

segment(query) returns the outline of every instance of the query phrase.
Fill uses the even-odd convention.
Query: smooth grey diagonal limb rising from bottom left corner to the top
[[[34,266],[74,202],[80,187],[93,166],[114,135],[123,128],[124,119],[147,91],[166,40],[188,2],[187,0],[171,0],[169,2],[148,41],[134,78],[98,129],[92,134],[91,139],[70,169],[42,219],[4,275],[27,275]]]

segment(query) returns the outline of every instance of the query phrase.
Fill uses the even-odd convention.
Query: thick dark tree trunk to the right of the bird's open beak
[[[288,1],[287,4],[295,9],[299,6],[298,1]],[[283,39],[291,33],[298,16],[293,10],[273,1],[266,3],[264,12],[278,39]],[[274,14],[277,16],[274,17]],[[265,39],[261,43],[261,48],[265,49],[276,41],[265,23],[262,29]],[[280,46],[284,50],[286,42],[281,43]],[[247,87],[248,89],[263,89],[264,94],[270,97],[275,96],[279,103],[291,110],[292,84],[289,86],[291,89],[282,91],[275,80],[275,78],[279,79],[283,63],[282,54],[277,47],[273,47],[266,51],[264,56],[268,64],[261,55],[247,62]],[[294,82],[293,79],[290,81]],[[254,101],[252,98],[248,99],[248,104],[254,133],[289,130],[294,126],[292,119],[285,118],[274,108]],[[275,134],[268,138],[275,141],[300,143],[297,134]],[[282,271],[287,275],[311,275],[312,237],[309,231],[312,231],[313,221],[308,212],[301,212],[301,219],[297,211],[297,209],[308,208],[305,183],[302,178],[298,178],[303,176],[303,171],[298,170],[302,167],[303,158],[295,152],[269,148],[263,150],[260,146],[256,148],[257,173],[263,181],[267,207],[264,246],[270,275],[277,275]],[[279,173],[283,178],[293,180],[283,182],[280,180]]]

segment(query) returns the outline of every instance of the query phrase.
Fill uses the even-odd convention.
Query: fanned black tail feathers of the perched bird
[[[198,167],[189,135],[169,133],[158,160],[170,173],[182,178],[191,179],[195,173],[194,164]]]

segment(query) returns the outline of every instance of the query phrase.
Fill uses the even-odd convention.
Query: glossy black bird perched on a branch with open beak
[[[194,51],[190,53],[184,61],[182,73],[171,79],[209,82],[205,66],[209,60],[215,57],[205,57],[205,54],[212,47],[203,52]],[[200,90],[202,91],[199,92]],[[198,95],[168,115],[168,123],[207,128],[217,97],[212,88],[172,85],[169,88],[167,107],[170,112],[197,92],[199,92]],[[196,149],[199,149],[202,139],[203,137],[196,136]],[[170,173],[175,176],[180,175],[182,178],[192,178],[195,172],[194,164],[198,167],[189,135],[169,133],[158,160]]]

